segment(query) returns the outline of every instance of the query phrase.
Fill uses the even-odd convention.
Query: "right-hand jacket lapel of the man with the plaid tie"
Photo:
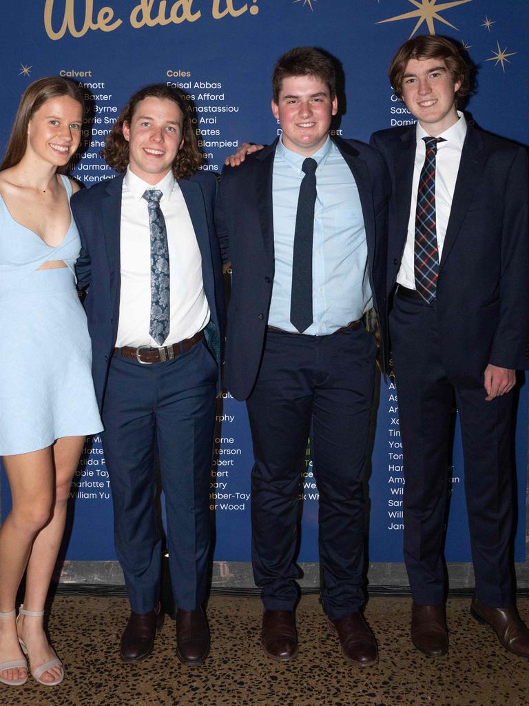
[[[461,162],[459,164],[450,217],[448,225],[446,226],[446,235],[444,237],[439,269],[442,269],[452,246],[454,246],[456,237],[461,229],[461,224],[463,223],[463,218],[466,215],[468,206],[474,196],[478,180],[482,174],[487,158],[487,150],[483,150],[482,147],[483,141],[480,133],[469,125],[465,142],[463,143],[463,151],[461,152]]]

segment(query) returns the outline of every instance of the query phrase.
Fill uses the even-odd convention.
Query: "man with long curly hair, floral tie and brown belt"
[[[131,607],[121,658],[147,657],[162,626],[158,461],[176,652],[184,664],[200,664],[209,651],[202,602],[223,318],[216,179],[198,172],[186,101],[162,84],[130,98],[104,157],[123,174],[80,191],[72,209],[83,244],[78,284],[90,285],[85,308],[116,553]]]

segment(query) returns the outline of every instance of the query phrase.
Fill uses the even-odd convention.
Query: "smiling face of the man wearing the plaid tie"
[[[402,96],[420,126],[437,137],[458,121],[456,91],[444,59],[410,59],[402,81]]]

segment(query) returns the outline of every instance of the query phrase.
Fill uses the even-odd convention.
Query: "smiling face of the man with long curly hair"
[[[147,184],[158,184],[183,145],[182,131],[183,114],[174,101],[152,96],[141,100],[130,124],[123,124],[130,171]]]

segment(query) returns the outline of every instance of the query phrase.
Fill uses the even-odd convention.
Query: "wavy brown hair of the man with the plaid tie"
[[[419,35],[404,42],[389,66],[389,80],[400,100],[403,100],[402,83],[410,59],[443,59],[454,83],[461,83],[456,91],[456,104],[461,105],[461,102],[470,95],[472,90],[470,66],[458,44],[438,35]]]

